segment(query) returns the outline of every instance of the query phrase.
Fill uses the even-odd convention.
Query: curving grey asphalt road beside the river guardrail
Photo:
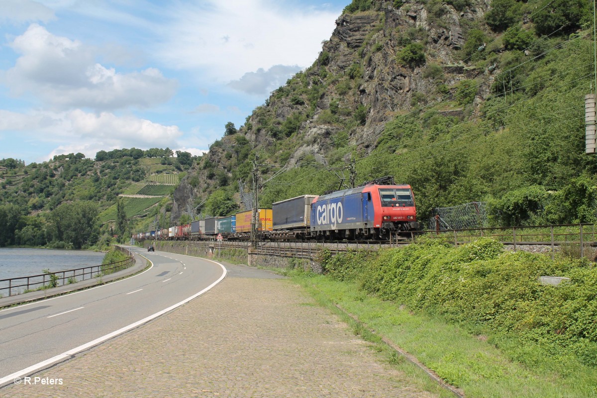
[[[213,261],[132,249],[153,266],[118,282],[0,311],[0,385],[108,340],[119,329],[135,328],[226,274]]]

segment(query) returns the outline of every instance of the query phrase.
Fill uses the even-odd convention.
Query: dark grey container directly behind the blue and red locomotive
[[[315,195],[303,195],[272,204],[273,230],[305,229],[310,225]]]

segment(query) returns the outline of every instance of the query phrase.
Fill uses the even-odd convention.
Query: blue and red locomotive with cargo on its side
[[[311,236],[316,239],[388,240],[419,227],[410,185],[373,181],[311,203]]]

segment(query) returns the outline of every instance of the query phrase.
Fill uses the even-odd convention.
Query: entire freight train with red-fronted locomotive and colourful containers
[[[258,209],[259,239],[389,240],[420,229],[413,190],[388,177],[327,195],[302,195]],[[137,233],[137,240],[250,239],[252,211]]]

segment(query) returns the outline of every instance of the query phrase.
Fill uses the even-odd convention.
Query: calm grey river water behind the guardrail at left
[[[63,271],[99,266],[104,254],[86,250],[0,248],[0,279],[38,275],[46,268]]]

